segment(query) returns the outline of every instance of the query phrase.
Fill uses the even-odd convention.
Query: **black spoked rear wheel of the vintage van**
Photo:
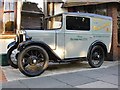
[[[88,56],[88,63],[92,68],[100,67],[105,59],[105,52],[99,45],[94,46]]]

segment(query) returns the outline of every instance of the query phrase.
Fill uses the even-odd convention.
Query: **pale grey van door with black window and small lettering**
[[[90,18],[66,16],[65,58],[86,57],[90,44]]]

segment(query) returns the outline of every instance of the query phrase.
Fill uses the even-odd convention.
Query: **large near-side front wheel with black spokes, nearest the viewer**
[[[18,55],[19,70],[29,77],[42,74],[48,67],[48,63],[48,54],[40,46],[28,46]]]

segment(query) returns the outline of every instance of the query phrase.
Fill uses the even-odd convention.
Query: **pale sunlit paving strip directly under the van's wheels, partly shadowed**
[[[77,63],[63,63],[63,64],[50,63],[48,69],[38,77],[52,76],[52,75],[71,73],[77,71],[98,70],[98,69],[114,66],[116,64],[118,64],[117,61],[116,62],[105,61],[100,68],[91,68],[87,63],[87,61],[77,62]],[[14,69],[11,66],[2,67],[2,70],[4,71],[4,74],[8,82],[31,78],[31,77],[26,77],[19,71],[19,69]]]

